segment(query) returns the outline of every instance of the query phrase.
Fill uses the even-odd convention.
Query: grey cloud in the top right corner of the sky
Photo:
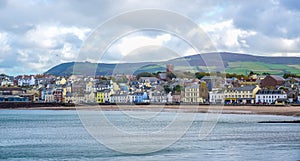
[[[295,38],[300,34],[300,12],[287,10],[272,1],[231,2],[226,18],[245,30],[254,30],[270,37]]]

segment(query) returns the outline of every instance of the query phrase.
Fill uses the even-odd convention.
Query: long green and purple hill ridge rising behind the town
[[[219,54],[223,60],[226,72],[247,74],[249,71],[258,73],[284,74],[286,72],[300,74],[300,57],[268,57],[255,56],[250,54],[219,52],[204,53],[190,56],[179,57],[161,62],[140,62],[140,63],[90,63],[90,62],[68,62],[59,64],[45,74],[57,76],[69,76],[72,74],[82,75],[112,75],[112,74],[137,74],[140,72],[158,72],[165,70],[165,64],[174,64],[175,70],[186,71],[194,68],[197,71],[206,71],[205,60],[211,60]],[[218,62],[216,62],[218,63]],[[74,65],[79,69],[74,73]],[[187,67],[187,65],[189,67]],[[89,70],[90,69],[90,70]],[[96,71],[94,69],[97,69]],[[117,69],[117,70],[116,70]]]

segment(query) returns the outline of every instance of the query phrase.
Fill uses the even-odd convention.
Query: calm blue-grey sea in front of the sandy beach
[[[109,124],[89,124],[82,114]],[[181,124],[174,111],[0,110],[0,160],[300,160],[300,124],[259,123],[299,117],[183,115],[190,124]],[[140,136],[154,136],[153,146]]]

